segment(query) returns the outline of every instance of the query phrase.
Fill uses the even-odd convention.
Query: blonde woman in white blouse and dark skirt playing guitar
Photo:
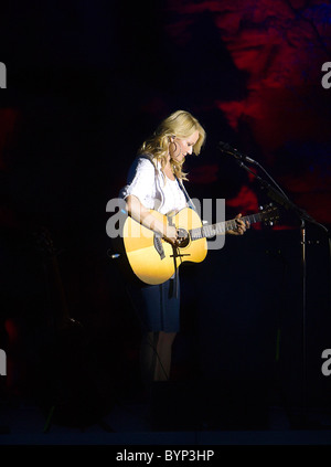
[[[164,225],[150,210],[167,214],[190,205],[183,185],[186,180],[183,162],[186,156],[199,155],[204,141],[205,130],[197,119],[189,112],[174,112],[140,147],[121,192],[129,215],[174,245],[175,226]],[[237,229],[229,233],[245,232],[246,225],[239,217],[241,214]],[[142,323],[140,364],[147,383],[170,378],[172,343],[180,329],[180,296],[173,293],[173,282],[174,277],[161,285],[129,287]]]

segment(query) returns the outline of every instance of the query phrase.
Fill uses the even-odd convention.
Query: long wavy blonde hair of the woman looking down
[[[141,145],[138,153],[150,155],[154,164],[160,162],[161,170],[163,170],[169,155],[171,138],[186,139],[196,130],[199,131],[199,138],[193,146],[193,152],[197,156],[205,141],[205,130],[189,112],[177,110],[160,123],[156,131]],[[173,173],[179,179],[186,180],[186,173],[182,171],[183,162],[184,160],[182,162],[171,160],[171,166]]]

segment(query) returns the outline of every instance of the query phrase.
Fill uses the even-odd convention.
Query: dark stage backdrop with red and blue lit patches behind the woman
[[[107,254],[106,204],[161,118],[184,108],[206,129],[186,160],[192,198],[224,198],[227,219],[271,201],[218,150],[226,141],[330,227],[331,2],[11,1],[0,36],[3,391],[85,423],[139,392],[139,327]],[[306,225],[305,307],[300,223],[281,214],[182,267],[172,379],[211,426],[224,405],[330,410],[329,236]]]

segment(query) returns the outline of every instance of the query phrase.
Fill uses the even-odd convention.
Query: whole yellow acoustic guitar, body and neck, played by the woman
[[[174,246],[150,229],[145,227],[126,214],[122,232],[113,241],[114,258],[118,258],[121,269],[130,279],[150,285],[168,280],[184,262],[201,263],[207,254],[207,238],[225,234],[237,226],[236,220],[203,224],[196,211],[184,208],[175,214],[160,214],[150,211],[164,225],[178,230],[178,244]],[[277,208],[269,205],[256,214],[241,217],[249,224],[278,220]]]

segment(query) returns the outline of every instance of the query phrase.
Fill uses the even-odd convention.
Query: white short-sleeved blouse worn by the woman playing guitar
[[[141,156],[135,160],[127,182],[120,192],[121,198],[126,199],[132,194],[145,208],[157,210],[161,214],[172,210],[180,211],[188,205],[180,182],[164,176],[160,166],[156,168],[148,156]]]

